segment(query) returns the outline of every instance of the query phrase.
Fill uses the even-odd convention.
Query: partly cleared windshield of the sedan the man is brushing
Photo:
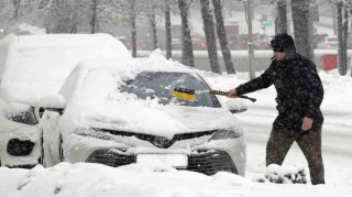
[[[175,88],[187,88],[196,90],[195,100],[173,97]],[[145,100],[147,97],[163,105],[179,105],[187,107],[212,107],[218,108],[218,99],[209,94],[208,85],[198,76],[187,73],[144,72],[133,80],[129,80],[120,87],[121,92],[134,94],[138,98]]]

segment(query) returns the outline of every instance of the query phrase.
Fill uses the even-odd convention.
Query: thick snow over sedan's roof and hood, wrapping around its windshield
[[[77,127],[91,127],[168,139],[176,133],[239,127],[227,108],[164,106],[157,97],[143,100],[134,94],[120,91],[124,81],[144,70],[197,72],[166,59],[160,51],[153,52],[148,58],[81,63],[61,90],[67,101],[63,121],[77,124],[70,129],[73,132]]]

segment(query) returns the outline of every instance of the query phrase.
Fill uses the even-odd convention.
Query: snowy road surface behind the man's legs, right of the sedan
[[[237,117],[243,123],[248,140],[248,176],[265,168],[265,147],[272,122],[276,118],[274,106],[251,105],[246,112]],[[322,133],[322,156],[327,185],[352,185],[352,113],[343,114],[326,110]],[[254,121],[255,120],[255,121]],[[296,143],[292,146],[283,165],[295,163],[308,166]],[[308,169],[308,168],[307,168]]]

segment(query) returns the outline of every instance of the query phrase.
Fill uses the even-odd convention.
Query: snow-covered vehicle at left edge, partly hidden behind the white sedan
[[[0,158],[2,166],[38,163],[40,98],[57,92],[81,61],[131,57],[108,34],[9,34],[0,41]]]

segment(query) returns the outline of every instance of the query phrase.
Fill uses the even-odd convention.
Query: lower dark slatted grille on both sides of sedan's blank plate
[[[133,154],[119,153],[109,150],[98,150],[89,155],[87,163],[100,163],[112,167],[119,167],[136,162]],[[238,169],[231,156],[224,151],[195,151],[188,156],[186,171],[215,175],[220,171],[238,174]]]

